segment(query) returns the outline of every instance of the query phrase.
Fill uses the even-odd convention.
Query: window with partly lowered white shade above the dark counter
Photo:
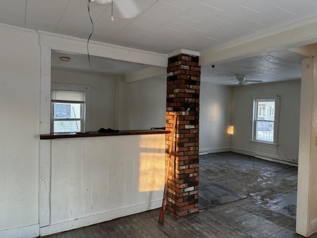
[[[86,128],[88,87],[52,84],[51,132],[76,132]],[[77,90],[84,91],[77,91]]]

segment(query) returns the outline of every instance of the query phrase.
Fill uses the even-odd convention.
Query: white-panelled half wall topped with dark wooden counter
[[[168,132],[41,135],[40,235],[160,207]]]

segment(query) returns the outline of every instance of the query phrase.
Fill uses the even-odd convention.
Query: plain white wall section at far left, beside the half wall
[[[0,28],[0,237],[2,230],[39,222],[40,48],[34,33]]]

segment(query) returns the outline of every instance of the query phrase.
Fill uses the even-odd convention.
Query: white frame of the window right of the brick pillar
[[[272,145],[277,145],[277,129],[278,129],[278,119],[279,119],[279,95],[256,95],[252,96],[252,105],[253,105],[253,110],[252,110],[252,142],[257,142],[257,143],[264,143],[264,144],[272,144]],[[257,102],[259,101],[274,101],[274,128],[273,128],[273,142],[270,141],[265,141],[265,140],[257,140]],[[263,111],[263,110],[262,110]],[[263,116],[264,117],[264,116]],[[269,121],[269,120],[267,120]]]

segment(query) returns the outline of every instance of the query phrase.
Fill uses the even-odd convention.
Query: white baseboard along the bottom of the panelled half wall
[[[100,214],[96,214],[96,215],[92,215],[88,217],[78,218],[72,221],[57,223],[47,227],[41,227],[40,236],[46,236],[46,235],[51,235],[58,232],[69,231],[69,230],[73,230],[80,227],[86,227],[93,224],[110,221],[115,218],[129,216],[129,215],[144,212],[144,211],[149,211],[152,209],[159,208],[162,205],[161,203],[162,203],[161,200],[153,201],[149,203],[135,205],[132,207],[126,207],[126,208],[121,208],[114,211],[108,211],[108,212],[104,212],[104,213],[100,213]]]

